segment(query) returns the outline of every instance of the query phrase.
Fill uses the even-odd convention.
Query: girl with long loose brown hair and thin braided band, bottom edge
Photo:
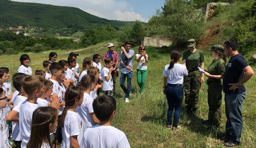
[[[58,125],[58,114],[58,110],[53,107],[35,109],[32,115],[31,135],[27,148],[52,148],[50,133],[53,133]]]

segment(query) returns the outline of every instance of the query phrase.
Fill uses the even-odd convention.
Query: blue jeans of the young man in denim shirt
[[[123,89],[123,91],[125,92],[125,98],[129,98],[130,97],[130,92],[131,92],[131,77],[133,76],[133,71],[130,71],[127,74],[123,74],[121,73],[120,76],[120,86]],[[125,78],[127,77],[127,89],[125,87]]]

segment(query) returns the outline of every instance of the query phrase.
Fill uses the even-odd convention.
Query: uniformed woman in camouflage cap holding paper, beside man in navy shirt
[[[224,47],[221,45],[215,45],[209,49],[215,59],[208,67],[208,71],[205,72],[205,76],[208,77],[208,105],[209,114],[208,120],[202,121],[204,125],[209,126],[208,129],[218,129],[221,124],[221,101],[222,101],[222,89],[223,85],[221,79],[226,68],[226,55]]]

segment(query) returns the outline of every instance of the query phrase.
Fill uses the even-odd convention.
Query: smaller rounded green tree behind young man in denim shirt
[[[145,27],[141,21],[136,20],[132,26],[130,23],[126,23],[125,26],[119,28],[117,42],[124,44],[126,41],[130,41],[133,46],[139,46],[144,36],[146,36]]]

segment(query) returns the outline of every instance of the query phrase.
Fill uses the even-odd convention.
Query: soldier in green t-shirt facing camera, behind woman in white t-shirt
[[[183,53],[182,64],[187,67],[188,76],[184,76],[184,95],[187,113],[196,115],[198,108],[198,96],[201,83],[204,82],[204,74],[198,67],[204,69],[203,51],[195,49],[195,40],[188,40],[188,49]]]

